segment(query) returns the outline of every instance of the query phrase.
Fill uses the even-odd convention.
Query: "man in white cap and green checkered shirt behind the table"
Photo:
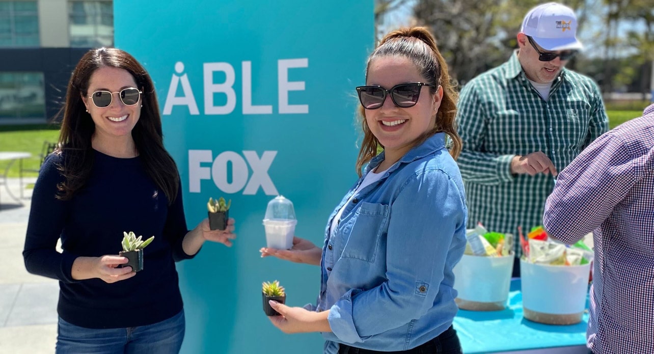
[[[545,200],[562,170],[608,130],[599,88],[564,68],[581,49],[574,11],[558,3],[525,16],[508,62],[470,80],[458,101],[468,228],[517,237],[543,223]],[[515,242],[516,256],[521,255]],[[516,262],[518,264],[518,262]],[[519,270],[514,267],[514,274]]]

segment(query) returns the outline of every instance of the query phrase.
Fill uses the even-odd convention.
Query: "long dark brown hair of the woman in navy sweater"
[[[131,130],[139,159],[148,176],[172,204],[179,192],[179,173],[170,154],[163,148],[162,120],[152,79],[145,68],[128,52],[116,48],[97,48],[86,52],[75,67],[68,83],[59,146],[65,150],[60,166],[65,181],[58,186],[58,199],[71,200],[88,179],[94,162],[91,137],[95,124],[86,113],[82,96],[88,96],[91,75],[100,67],[128,71],[141,95],[141,117]]]

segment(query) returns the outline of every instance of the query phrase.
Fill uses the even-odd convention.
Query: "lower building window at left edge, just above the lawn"
[[[45,118],[43,73],[0,71],[0,121]]]

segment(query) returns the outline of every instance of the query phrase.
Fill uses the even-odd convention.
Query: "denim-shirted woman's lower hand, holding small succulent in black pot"
[[[269,316],[270,322],[284,333],[332,332],[327,316],[329,311],[314,312],[304,308],[290,308],[275,300],[270,306],[281,316]]]

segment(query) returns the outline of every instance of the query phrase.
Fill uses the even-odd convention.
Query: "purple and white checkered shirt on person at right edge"
[[[543,224],[566,243],[593,232],[593,353],[652,353],[654,105],[598,137],[561,171]]]

